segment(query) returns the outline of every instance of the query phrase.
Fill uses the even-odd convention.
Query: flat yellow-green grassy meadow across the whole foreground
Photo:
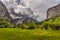
[[[60,31],[0,28],[0,40],[60,40]]]

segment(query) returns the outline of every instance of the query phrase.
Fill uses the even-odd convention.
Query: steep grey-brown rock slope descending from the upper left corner
[[[8,21],[11,21],[11,17],[7,11],[7,8],[1,1],[0,1],[0,17]]]

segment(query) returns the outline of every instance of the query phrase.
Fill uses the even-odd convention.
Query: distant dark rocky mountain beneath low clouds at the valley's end
[[[19,23],[28,23],[28,22],[37,22],[37,20],[33,19],[33,18],[17,18],[13,20],[13,23],[18,25]]]

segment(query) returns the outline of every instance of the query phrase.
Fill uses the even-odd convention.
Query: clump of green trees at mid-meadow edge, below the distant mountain
[[[17,25],[18,28],[22,28],[22,29],[34,29],[37,28],[36,24],[34,22],[28,22],[27,24],[18,24]]]

